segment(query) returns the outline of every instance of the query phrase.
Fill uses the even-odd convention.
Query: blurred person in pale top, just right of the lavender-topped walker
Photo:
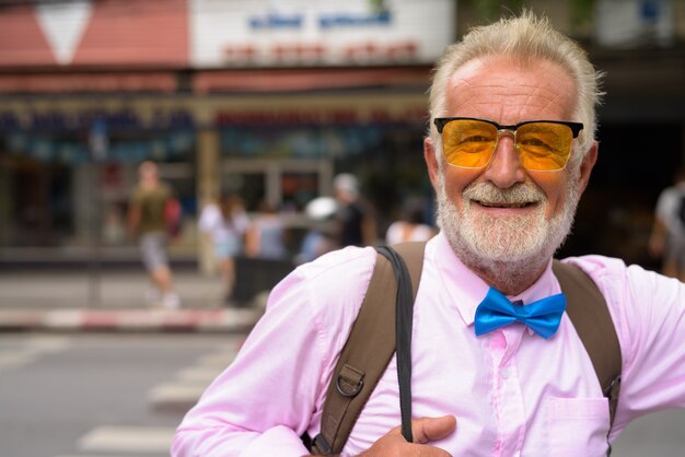
[[[259,203],[259,213],[247,228],[245,255],[271,260],[285,259],[288,256],[283,222],[276,208],[266,201]]]

